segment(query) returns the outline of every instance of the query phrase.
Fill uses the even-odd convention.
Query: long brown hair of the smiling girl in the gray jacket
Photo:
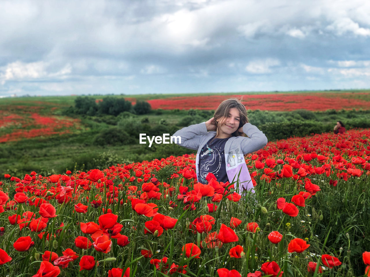
[[[225,101],[223,101],[218,108],[215,111],[215,114],[213,115],[213,119],[215,120],[216,125],[216,137],[220,133],[220,126],[225,122],[227,117],[229,116],[229,112],[231,108],[236,108],[239,111],[240,114],[240,120],[239,120],[239,127],[242,127],[245,123],[248,123],[248,114],[245,106],[242,104],[240,99],[238,98],[230,98]],[[232,133],[233,137],[237,136],[245,136],[243,133],[239,133],[238,130],[236,130],[234,133]]]

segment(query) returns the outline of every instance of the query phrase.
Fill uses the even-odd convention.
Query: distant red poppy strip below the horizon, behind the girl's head
[[[231,97],[243,99],[243,104],[251,110],[292,111],[306,109],[324,111],[329,109],[369,109],[369,92],[346,93],[271,93],[246,95],[202,95],[181,96],[148,100],[152,109],[202,109],[215,110],[218,105]]]

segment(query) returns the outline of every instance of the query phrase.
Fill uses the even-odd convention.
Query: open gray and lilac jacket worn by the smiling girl
[[[245,123],[243,133],[248,137],[231,137],[225,144],[225,166],[229,182],[234,182],[239,192],[252,191],[253,184],[250,178],[244,155],[257,151],[267,144],[267,138],[256,126]],[[216,136],[216,131],[207,131],[205,122],[194,124],[178,130],[173,137],[180,136],[178,145],[198,150],[196,153],[196,176],[199,180],[199,153],[208,140]],[[173,138],[173,142],[176,143]]]

